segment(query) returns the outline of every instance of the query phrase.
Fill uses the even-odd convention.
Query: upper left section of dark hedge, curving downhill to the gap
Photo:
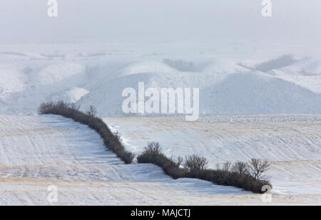
[[[134,155],[131,152],[126,151],[123,144],[121,144],[118,134],[113,134],[103,120],[95,116],[93,110],[88,112],[88,114],[84,114],[79,111],[78,106],[58,101],[56,103],[49,102],[41,104],[39,107],[39,114],[58,114],[73,119],[73,121],[80,122],[81,124],[88,125],[91,129],[98,132],[103,139],[105,146],[113,151],[121,160],[126,164],[131,164],[133,162]]]

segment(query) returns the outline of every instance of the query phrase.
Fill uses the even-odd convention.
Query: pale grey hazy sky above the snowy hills
[[[321,39],[320,0],[1,0],[0,42]]]

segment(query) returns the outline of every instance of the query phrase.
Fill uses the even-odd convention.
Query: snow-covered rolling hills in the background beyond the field
[[[321,114],[317,58],[287,60],[278,58],[280,51],[258,57],[228,48],[38,47],[1,47],[1,114],[36,114],[41,102],[63,100],[82,110],[96,106],[100,116],[123,116],[122,91],[137,89],[139,81],[146,88],[199,88],[200,114]]]

